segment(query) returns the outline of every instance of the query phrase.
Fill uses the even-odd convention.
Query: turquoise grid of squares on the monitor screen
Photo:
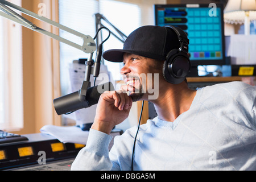
[[[209,16],[209,9],[187,9],[189,53],[191,60],[221,59],[222,30],[220,10]]]

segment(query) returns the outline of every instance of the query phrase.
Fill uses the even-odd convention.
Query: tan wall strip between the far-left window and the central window
[[[22,7],[39,13],[39,3],[46,6],[46,17],[57,21],[57,1],[23,0]],[[36,26],[57,32],[56,28],[24,15]],[[22,29],[23,36],[23,97],[24,129],[20,134],[39,133],[44,125],[60,125],[55,114],[53,99],[60,96],[59,84],[59,43],[46,35]]]

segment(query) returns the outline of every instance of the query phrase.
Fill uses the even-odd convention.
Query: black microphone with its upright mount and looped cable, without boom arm
[[[97,38],[98,32],[105,28],[109,31],[106,27],[101,27],[98,29],[96,36],[94,39]],[[97,55],[96,55],[96,62],[92,60],[93,52],[90,53],[90,58],[88,61],[86,61],[86,75],[85,80],[82,83],[82,88],[74,93],[68,94],[67,96],[63,96],[60,98],[56,98],[53,100],[53,105],[55,107],[56,113],[58,115],[61,114],[70,114],[73,113],[76,110],[84,109],[90,106],[93,106],[98,103],[98,100],[100,99],[100,96],[105,91],[113,91],[114,86],[112,82],[107,82],[102,85],[93,86],[90,87],[90,75],[92,74],[94,77],[98,77],[100,74],[100,66],[101,66],[101,57],[102,57],[102,44],[106,42],[106,40],[109,39],[111,32],[109,31],[109,36],[106,38],[97,49]],[[92,73],[92,66],[93,73]],[[90,87],[90,88],[89,88]]]

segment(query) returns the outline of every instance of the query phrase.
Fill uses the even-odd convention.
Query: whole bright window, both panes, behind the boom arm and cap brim
[[[78,0],[76,3],[71,0],[59,1],[60,24],[92,37],[96,34],[96,21],[94,17],[96,13],[104,15],[114,26],[126,35],[129,35],[131,31],[141,25],[141,10],[137,5],[131,3],[112,0]],[[117,14],[118,16],[116,16]],[[120,19],[120,17],[122,17],[122,19]],[[106,27],[109,28],[109,25],[106,24]],[[60,36],[76,41],[77,43],[81,41],[77,38],[72,38],[72,35],[64,31],[60,31]],[[108,42],[104,44],[104,49],[110,48],[122,48],[122,43],[112,36]],[[96,56],[95,54],[96,53],[94,53],[94,56]],[[73,60],[88,58],[88,56],[89,54],[60,43],[61,90],[63,94],[68,93],[69,64],[72,63]],[[117,71],[120,69],[118,64],[105,64],[109,71],[112,72],[114,80],[121,79]]]

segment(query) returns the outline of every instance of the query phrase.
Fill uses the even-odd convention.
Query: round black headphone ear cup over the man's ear
[[[187,54],[174,49],[168,53],[163,65],[163,76],[171,84],[183,82],[191,69],[191,63]]]

